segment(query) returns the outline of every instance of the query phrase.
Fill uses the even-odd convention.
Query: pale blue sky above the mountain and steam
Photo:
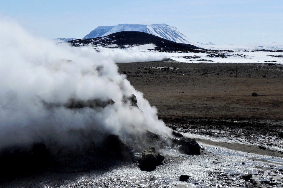
[[[97,26],[165,23],[198,42],[283,43],[282,0],[1,0],[9,17],[44,38],[83,38]]]

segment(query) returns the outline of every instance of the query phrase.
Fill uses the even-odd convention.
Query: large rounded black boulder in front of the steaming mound
[[[139,168],[142,171],[153,171],[157,165],[162,164],[164,156],[156,152],[153,146],[143,151],[139,160]]]

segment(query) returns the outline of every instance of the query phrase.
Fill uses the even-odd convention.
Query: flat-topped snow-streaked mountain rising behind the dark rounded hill
[[[99,26],[87,34],[84,39],[107,36],[120,31],[140,31],[177,43],[191,44],[200,48],[204,47],[203,45],[192,41],[190,38],[187,38],[180,31],[178,31],[177,28],[167,24],[119,24],[116,26]]]

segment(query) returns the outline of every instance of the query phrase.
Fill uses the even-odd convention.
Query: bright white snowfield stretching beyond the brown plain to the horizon
[[[259,47],[263,45],[262,47]],[[206,45],[205,48],[210,52],[203,53],[183,53],[183,52],[154,52],[153,44],[146,44],[140,46],[132,46],[127,51],[152,51],[152,53],[163,53],[168,58],[175,61],[185,63],[267,63],[267,64],[283,64],[283,52],[277,50],[283,50],[283,44],[228,44],[228,45]],[[258,51],[258,50],[271,50],[271,51]],[[108,49],[110,50],[110,49]],[[219,52],[218,52],[219,51]],[[223,54],[223,55],[222,55]],[[221,55],[221,56],[218,56]]]

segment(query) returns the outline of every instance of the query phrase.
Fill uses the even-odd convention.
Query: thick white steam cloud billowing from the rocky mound
[[[34,142],[76,145],[92,132],[121,137],[146,130],[170,134],[158,120],[157,109],[118,73],[115,64],[160,60],[162,55],[98,53],[89,47],[55,44],[3,20],[0,35],[0,149]],[[125,100],[132,94],[138,107]],[[70,107],[78,101],[96,105]]]

